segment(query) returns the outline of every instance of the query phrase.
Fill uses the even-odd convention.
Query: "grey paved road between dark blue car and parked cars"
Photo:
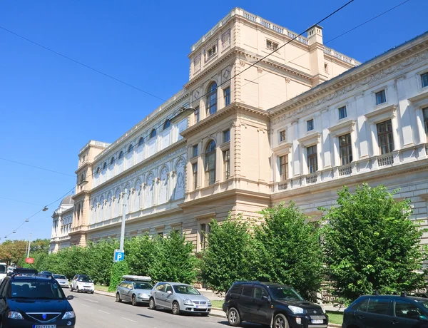
[[[227,328],[225,319],[200,317],[199,314],[180,316],[164,310],[151,310],[146,306],[133,307],[126,302],[116,303],[113,297],[100,294],[82,294],[64,289],[74,299],[70,301],[76,312],[76,328]],[[243,324],[247,328],[259,328],[257,324]]]

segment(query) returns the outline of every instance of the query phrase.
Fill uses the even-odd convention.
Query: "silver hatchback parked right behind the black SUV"
[[[158,282],[151,290],[148,307],[171,309],[173,314],[200,313],[205,317],[210,314],[211,302],[191,285],[180,282]]]

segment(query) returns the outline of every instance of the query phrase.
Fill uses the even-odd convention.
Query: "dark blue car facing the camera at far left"
[[[36,270],[15,270],[0,284],[1,328],[73,328],[76,315],[61,286]]]

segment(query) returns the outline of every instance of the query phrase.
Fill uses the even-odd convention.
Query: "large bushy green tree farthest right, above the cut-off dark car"
[[[354,194],[345,187],[338,192],[338,206],[327,210],[323,249],[340,302],[374,290],[409,291],[424,282],[424,230],[410,220],[409,201],[397,202],[394,193],[382,185],[364,184]]]

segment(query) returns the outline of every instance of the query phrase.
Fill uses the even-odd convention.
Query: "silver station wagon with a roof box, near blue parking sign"
[[[131,302],[134,306],[146,303],[150,299],[150,292],[153,289],[151,277],[144,276],[123,276],[116,289],[116,302]]]

